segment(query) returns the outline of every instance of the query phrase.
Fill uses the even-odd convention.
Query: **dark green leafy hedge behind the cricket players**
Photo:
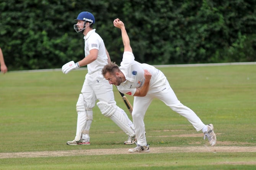
[[[113,62],[124,21],[137,61],[150,64],[256,61],[256,0],[0,0],[0,47],[8,70],[61,68],[84,57],[73,29],[82,11]]]

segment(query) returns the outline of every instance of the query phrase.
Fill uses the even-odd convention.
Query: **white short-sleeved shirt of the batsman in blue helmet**
[[[95,71],[101,71],[104,65],[108,64],[108,57],[106,54],[105,45],[103,39],[95,32],[95,29],[89,31],[85,39],[85,57],[90,54],[90,50],[97,49],[98,58],[87,65],[88,73],[94,73]]]

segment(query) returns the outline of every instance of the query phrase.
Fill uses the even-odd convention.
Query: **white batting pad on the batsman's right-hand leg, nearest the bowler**
[[[97,106],[101,110],[101,113],[113,120],[119,128],[121,128],[127,135],[134,136],[135,132],[129,126],[127,118],[122,114],[121,109],[117,106],[108,104],[107,102],[98,102]]]

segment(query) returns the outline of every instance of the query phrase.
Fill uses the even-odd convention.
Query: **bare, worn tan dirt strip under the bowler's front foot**
[[[214,153],[256,152],[256,146],[150,147],[150,152],[147,154],[169,153],[169,152],[184,152],[184,153],[185,152],[214,152]],[[86,149],[86,150],[72,150],[72,151],[13,152],[13,153],[0,153],[0,159],[21,158],[21,157],[26,157],[26,158],[28,157],[60,157],[60,156],[78,156],[78,155],[116,155],[116,154],[134,154],[134,153],[129,153],[127,148]],[[142,154],[142,153],[138,153],[138,154]],[[254,162],[253,164],[256,164],[256,162]]]

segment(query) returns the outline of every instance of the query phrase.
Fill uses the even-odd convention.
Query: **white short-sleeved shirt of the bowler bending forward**
[[[117,86],[117,89],[124,94],[133,96],[136,89],[143,86],[145,82],[144,70],[148,70],[152,74],[150,90],[153,90],[154,87],[163,84],[161,82],[161,78],[157,76],[159,70],[154,66],[136,62],[132,52],[124,52],[120,65],[119,69],[124,74],[126,81]]]

